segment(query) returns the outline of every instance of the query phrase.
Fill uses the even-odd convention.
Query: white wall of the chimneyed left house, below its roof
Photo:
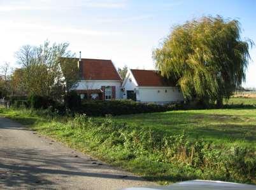
[[[101,86],[115,86],[116,99],[122,97],[120,81],[80,81],[76,86],[76,90],[96,90],[101,89]]]

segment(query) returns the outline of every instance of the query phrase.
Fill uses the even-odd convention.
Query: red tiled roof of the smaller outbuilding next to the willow
[[[139,86],[174,86],[157,71],[131,69],[131,72]]]

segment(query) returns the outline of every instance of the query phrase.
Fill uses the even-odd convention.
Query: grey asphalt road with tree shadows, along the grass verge
[[[0,117],[0,189],[122,189],[151,185]]]

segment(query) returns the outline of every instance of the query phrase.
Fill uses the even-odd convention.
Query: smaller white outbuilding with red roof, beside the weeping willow
[[[156,71],[129,69],[122,83],[124,99],[167,104],[183,101],[183,94]]]

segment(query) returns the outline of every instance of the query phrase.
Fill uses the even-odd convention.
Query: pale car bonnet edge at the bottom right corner
[[[131,187],[123,190],[256,190],[256,186],[213,180],[188,180],[159,187]]]

